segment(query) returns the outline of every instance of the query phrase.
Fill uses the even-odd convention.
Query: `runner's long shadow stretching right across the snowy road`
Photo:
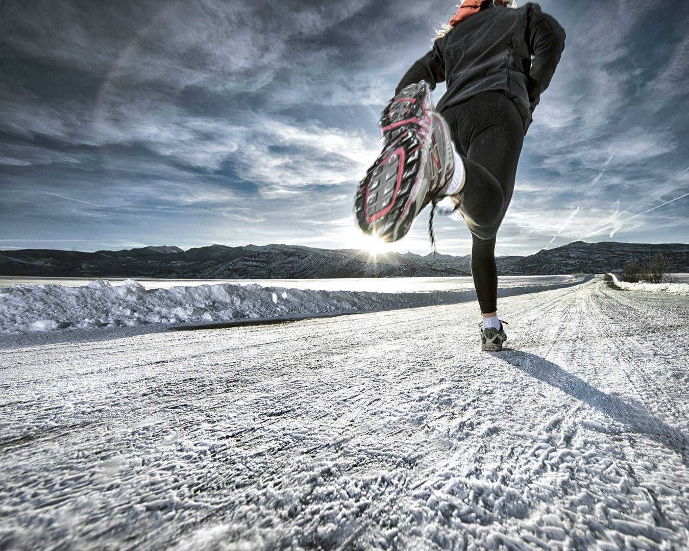
[[[650,415],[643,406],[630,405],[619,397],[601,392],[557,364],[548,362],[535,354],[504,350],[502,353],[491,355],[521,369],[539,381],[555,386],[564,393],[586,402],[589,406],[624,424],[629,430],[647,435],[659,444],[677,452],[684,464],[688,464],[689,439],[687,436],[681,430]]]

